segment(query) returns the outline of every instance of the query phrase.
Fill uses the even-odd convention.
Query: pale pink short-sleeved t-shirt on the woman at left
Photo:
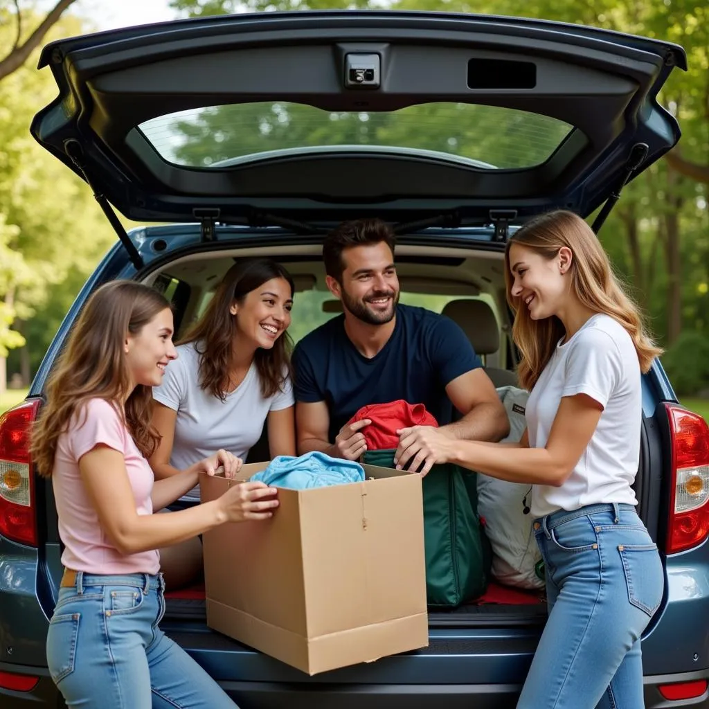
[[[79,459],[99,444],[123,454],[135,509],[139,515],[152,514],[150,493],[155,477],[150,464],[138,450],[113,404],[104,399],[90,399],[74,413],[67,432],[57,441],[52,485],[59,515],[59,535],[66,547],[62,564],[67,569],[91,574],[157,574],[160,570],[157,549],[124,556],[99,524],[99,515],[79,473]]]

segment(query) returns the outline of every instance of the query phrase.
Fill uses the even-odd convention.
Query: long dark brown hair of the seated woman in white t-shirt
[[[235,263],[217,287],[204,315],[178,342],[179,345],[194,342],[199,354],[199,384],[221,401],[225,401],[228,393],[234,337],[238,337],[238,316],[232,315],[229,308],[233,303],[242,303],[251,291],[274,278],[287,281],[291,286],[292,297],[295,291],[293,279],[281,264],[267,258],[245,259]],[[261,347],[256,350],[254,359],[264,398],[283,390],[286,377],[291,372],[292,347],[291,337],[285,332],[270,350]]]

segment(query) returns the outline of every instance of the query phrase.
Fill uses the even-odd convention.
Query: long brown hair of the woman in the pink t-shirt
[[[152,387],[130,389],[123,342],[169,307],[164,296],[134,281],[111,281],[86,301],[49,377],[47,403],[33,429],[31,452],[40,475],[52,474],[57,440],[91,398],[113,403],[138,450],[145,457],[155,452],[160,435],[150,423]]]

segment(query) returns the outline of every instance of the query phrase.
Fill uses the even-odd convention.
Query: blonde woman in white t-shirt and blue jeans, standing
[[[519,379],[530,390],[527,430],[518,444],[496,444],[405,429],[398,467],[426,474],[453,462],[531,486],[549,620],[518,708],[642,709],[640,636],[664,571],[632,484],[641,375],[660,350],[574,213],[524,225],[505,262]]]

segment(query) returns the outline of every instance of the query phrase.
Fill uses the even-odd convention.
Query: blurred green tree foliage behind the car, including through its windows
[[[14,41],[13,23],[4,21],[8,6],[0,0],[0,46]],[[686,49],[689,70],[673,72],[659,101],[679,118],[683,157],[709,164],[709,6],[701,0],[172,0],[171,6],[181,16],[367,7],[440,10],[583,23],[670,40]],[[81,32],[78,21],[66,17],[53,36]],[[33,68],[35,60],[0,82],[0,355],[2,347],[16,347],[23,335],[32,369],[86,274],[115,240],[90,190],[28,134],[33,113],[56,91],[50,72]],[[172,128],[187,140],[171,148],[170,157],[204,166],[274,148],[354,143],[445,150],[513,167],[543,159],[562,138],[562,125],[503,113],[501,118],[487,106],[458,104],[393,113],[247,104],[183,118]],[[549,143],[530,139],[532,130],[541,130]],[[674,385],[688,393],[709,386],[701,364],[709,362],[708,202],[707,184],[682,177],[661,160],[626,186],[601,231],[603,245],[659,340],[668,345],[676,335],[674,318],[689,331],[664,357]],[[296,339],[330,317],[321,304],[327,294],[304,295],[298,294],[294,309]],[[22,321],[22,335],[18,327],[9,327],[11,318]],[[16,334],[8,335],[11,331]],[[11,354],[10,371],[16,369],[18,357]]]

